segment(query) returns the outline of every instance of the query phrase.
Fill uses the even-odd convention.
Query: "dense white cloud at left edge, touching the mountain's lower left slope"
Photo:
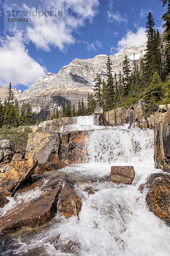
[[[20,32],[13,37],[0,38],[0,58],[0,85],[11,82],[12,86],[29,86],[45,75],[45,68],[29,56]]]

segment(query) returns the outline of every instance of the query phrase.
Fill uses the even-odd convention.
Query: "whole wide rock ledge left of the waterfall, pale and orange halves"
[[[66,164],[83,163],[88,157],[87,144],[92,131],[66,133],[35,132],[28,136],[26,158],[39,163],[60,160]]]

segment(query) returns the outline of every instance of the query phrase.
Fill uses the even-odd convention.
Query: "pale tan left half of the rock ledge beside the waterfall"
[[[36,158],[38,163],[48,162],[51,154],[58,155],[59,134],[55,132],[35,132],[28,136],[26,158]]]

